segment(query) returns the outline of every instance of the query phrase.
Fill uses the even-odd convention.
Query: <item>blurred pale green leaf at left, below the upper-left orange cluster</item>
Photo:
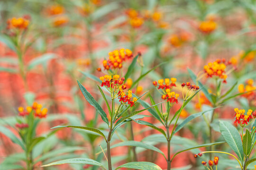
[[[42,64],[43,66],[46,66],[46,63],[51,60],[51,59],[55,59],[56,58],[56,54],[54,53],[46,53],[43,54],[35,59],[32,59],[27,66],[27,70],[30,70],[32,68],[35,68],[37,65]]]

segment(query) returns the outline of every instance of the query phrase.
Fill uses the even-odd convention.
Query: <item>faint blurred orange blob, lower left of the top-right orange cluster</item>
[[[168,42],[174,47],[180,47],[184,42],[190,39],[190,34],[181,32],[179,34],[172,34],[168,39]]]

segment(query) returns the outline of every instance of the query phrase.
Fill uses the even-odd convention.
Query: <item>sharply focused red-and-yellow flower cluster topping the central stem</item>
[[[111,93],[111,98],[119,98],[119,102],[122,104],[129,105],[132,107],[134,103],[137,101],[136,97],[132,98],[132,91],[129,90],[128,94],[125,93],[125,89],[127,86],[124,84],[125,78],[119,75],[114,75],[113,77],[110,75],[101,76],[100,80],[102,81],[101,87],[105,86]]]

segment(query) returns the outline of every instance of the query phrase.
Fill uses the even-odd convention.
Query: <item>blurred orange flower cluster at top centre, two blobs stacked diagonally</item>
[[[139,13],[135,9],[126,10],[126,15],[129,18],[129,23],[134,28],[139,28],[144,23],[143,17],[140,17]]]

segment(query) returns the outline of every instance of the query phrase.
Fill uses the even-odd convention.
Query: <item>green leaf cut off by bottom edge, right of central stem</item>
[[[119,168],[130,168],[130,169],[136,169],[136,170],[162,170],[155,163],[145,162],[145,161],[129,162],[117,167],[117,169]]]

